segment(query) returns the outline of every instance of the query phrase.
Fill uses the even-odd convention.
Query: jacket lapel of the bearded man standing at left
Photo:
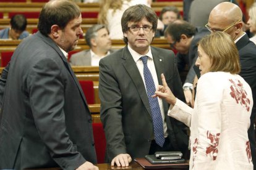
[[[80,94],[82,96],[83,101],[86,103],[86,99],[85,96],[83,94],[83,91],[80,87],[79,81],[77,79],[77,77],[74,74],[74,71],[72,70],[72,68],[70,67],[69,63],[67,62],[66,57],[64,56],[64,54],[62,53],[61,49],[59,49],[59,47],[56,45],[56,43],[49,37],[43,36],[43,34],[41,34],[39,31],[38,33],[36,33],[38,36],[40,36],[40,38],[46,42],[47,44],[49,44],[49,46],[51,46],[58,54],[59,57],[61,57],[65,67],[67,68],[67,70],[69,71],[70,75],[72,76],[72,78],[75,81],[75,84],[77,85],[77,87],[79,88]]]

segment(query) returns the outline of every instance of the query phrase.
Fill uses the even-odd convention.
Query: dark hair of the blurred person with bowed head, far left
[[[24,31],[27,27],[27,18],[21,14],[14,15],[10,24],[13,30]]]

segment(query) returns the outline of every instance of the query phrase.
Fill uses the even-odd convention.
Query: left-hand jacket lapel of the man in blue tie
[[[148,114],[150,114],[150,116],[151,116],[147,91],[145,89],[142,77],[140,76],[140,71],[137,68],[137,65],[134,62],[134,59],[132,58],[132,55],[130,54],[127,46],[123,50],[122,59],[124,59],[124,62],[122,63],[124,65],[124,68],[126,68],[126,71],[130,75],[130,78],[134,82],[134,85],[140,95],[140,99],[142,99],[142,102],[145,105],[145,107],[148,111]]]

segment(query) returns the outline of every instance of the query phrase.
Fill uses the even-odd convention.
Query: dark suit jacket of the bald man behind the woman
[[[248,130],[248,137],[250,140],[250,148],[252,150],[252,161],[254,163],[254,167],[256,167],[256,145],[254,131],[254,120],[256,116],[256,46],[254,42],[249,40],[247,34],[242,36],[242,38],[236,42],[236,46],[241,62],[240,75],[250,85],[250,88],[252,89],[252,98],[254,99],[252,115],[250,116],[250,129]]]

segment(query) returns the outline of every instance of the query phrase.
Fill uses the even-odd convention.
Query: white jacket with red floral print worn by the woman
[[[177,99],[168,115],[190,127],[189,169],[253,169],[247,135],[252,105],[250,86],[225,72],[198,79],[194,109]]]

